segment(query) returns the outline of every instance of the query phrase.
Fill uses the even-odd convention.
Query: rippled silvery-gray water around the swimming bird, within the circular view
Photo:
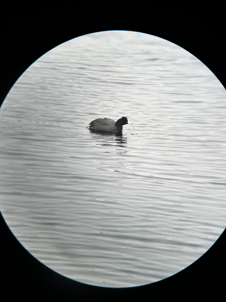
[[[24,247],[88,284],[130,287],[198,259],[226,225],[225,89],[147,34],[68,41],[0,111],[1,211]],[[91,133],[126,116],[123,133]]]

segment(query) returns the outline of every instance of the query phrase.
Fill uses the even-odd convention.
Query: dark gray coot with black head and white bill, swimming
[[[93,131],[105,131],[105,132],[113,132],[113,131],[122,131],[122,126],[130,124],[130,121],[127,119],[127,117],[123,116],[120,119],[112,120],[110,118],[98,118],[96,120],[93,120],[91,123],[89,123],[89,130]]]

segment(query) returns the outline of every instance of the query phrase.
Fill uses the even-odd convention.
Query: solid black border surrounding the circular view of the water
[[[3,1],[1,18],[1,101],[18,77],[42,54],[60,43],[91,32],[130,30],[176,43],[200,59],[225,85],[225,4],[185,5],[144,2],[95,2],[93,7],[47,2]],[[131,7],[132,6],[132,7]],[[101,288],[65,278],[27,252],[1,217],[2,295],[8,300],[174,300],[223,301],[226,230],[188,268],[153,284],[134,288]]]

